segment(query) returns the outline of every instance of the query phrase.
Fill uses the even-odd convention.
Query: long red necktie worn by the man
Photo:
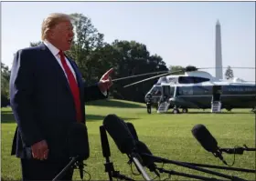
[[[65,69],[66,75],[68,76],[69,79],[69,86],[74,98],[74,102],[75,102],[75,106],[76,106],[76,111],[77,111],[77,121],[81,121],[81,108],[80,108],[80,90],[79,90],[79,86],[76,82],[76,79],[73,75],[73,73],[71,72],[69,65],[67,65],[67,62],[65,60],[65,56],[63,54],[63,52],[60,50],[59,51],[59,55],[60,55],[60,61]]]

